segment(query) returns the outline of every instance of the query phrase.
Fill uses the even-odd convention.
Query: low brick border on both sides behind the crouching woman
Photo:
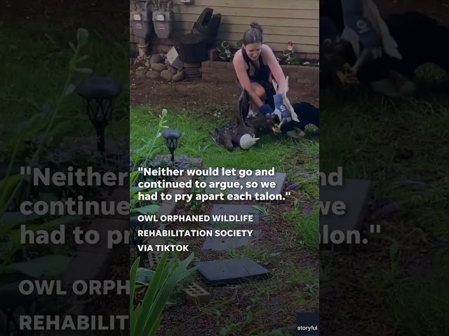
[[[288,76],[289,87],[313,85],[319,87],[319,66],[281,65],[283,73]],[[232,62],[205,61],[201,64],[203,80],[220,80],[225,83],[236,83],[237,76]]]

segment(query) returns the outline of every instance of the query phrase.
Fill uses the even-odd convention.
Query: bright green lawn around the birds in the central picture
[[[131,151],[145,146],[147,141],[154,137],[158,130],[158,118],[161,108],[138,107],[130,112],[130,146]],[[225,120],[219,124],[207,118],[201,118],[199,111],[181,111],[174,113],[168,111],[167,125],[181,132],[182,137],[175,155],[187,155],[202,158],[204,167],[229,167],[236,169],[272,169],[275,172],[285,172],[291,183],[299,183],[299,192],[296,197],[304,200],[318,200],[319,197],[319,139],[314,130],[307,128],[305,139],[296,140],[282,135],[270,134],[262,137],[248,151],[237,149],[230,152],[221,148],[210,139],[209,132],[215,127],[225,125]],[[165,141],[159,137],[155,144],[155,153],[167,155]],[[309,174],[309,179],[298,176],[297,172]],[[295,208],[301,207],[300,198],[291,198]],[[307,246],[318,248],[317,228],[319,214],[312,214],[303,218],[300,212],[293,211],[286,214],[286,220],[292,223],[298,237]],[[305,223],[305,224],[304,224]]]

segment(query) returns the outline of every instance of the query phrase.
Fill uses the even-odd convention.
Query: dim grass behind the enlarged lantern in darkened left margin
[[[20,22],[17,25],[2,27],[0,44],[6,48],[0,50],[2,66],[0,85],[0,109],[4,113],[2,123],[17,125],[40,111],[43,104],[51,102],[61,94],[65,83],[72,49],[69,42],[76,44],[76,30],[83,26],[74,26],[67,20],[65,24],[48,22]],[[123,85],[123,92],[116,101],[113,118],[107,127],[107,135],[128,136],[129,74],[128,74],[128,36],[110,36],[98,31],[89,31],[88,45],[83,55],[88,58],[80,66],[91,68],[92,76],[109,76]],[[120,41],[123,43],[120,44]],[[13,57],[11,57],[11,53]],[[86,73],[74,77],[76,85]],[[76,95],[66,97],[61,107],[61,120],[71,120],[71,129],[65,135],[81,137],[95,134],[88,120],[86,109]],[[14,127],[8,127],[8,130]]]

